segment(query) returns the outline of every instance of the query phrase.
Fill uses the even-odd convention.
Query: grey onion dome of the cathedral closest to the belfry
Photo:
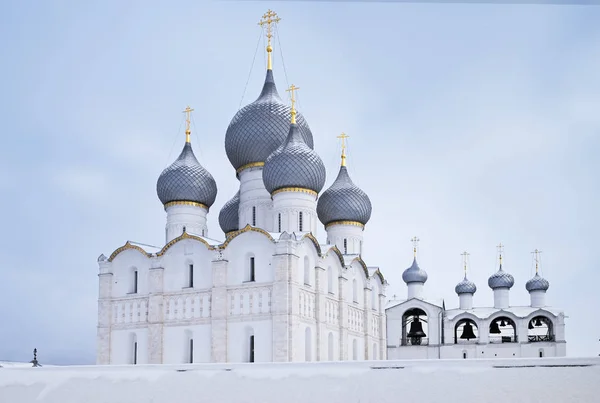
[[[371,218],[371,200],[356,186],[345,166],[333,184],[323,192],[317,202],[317,216],[323,225],[335,221],[356,221],[365,225]]]

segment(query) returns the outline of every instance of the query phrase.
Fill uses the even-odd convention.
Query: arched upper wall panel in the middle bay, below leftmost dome
[[[190,265],[193,265],[193,289],[212,287],[213,252],[194,239],[183,239],[169,248],[161,258],[164,267],[164,291],[179,292],[190,288]]]

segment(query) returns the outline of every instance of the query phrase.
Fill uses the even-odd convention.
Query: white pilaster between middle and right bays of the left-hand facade
[[[211,295],[212,362],[227,362],[227,266],[222,250],[215,252],[212,261],[213,289]]]

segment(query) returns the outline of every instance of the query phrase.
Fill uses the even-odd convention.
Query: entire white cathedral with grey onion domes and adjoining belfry
[[[403,274],[404,301],[387,301],[387,282],[362,258],[369,197],[341,166],[325,191],[313,135],[275,86],[268,11],[268,68],[256,101],[225,135],[239,191],[222,207],[225,239],[209,237],[212,175],[186,141],[157,182],[167,219],[165,244],[127,242],[101,255],[98,364],[298,362],[401,358],[565,355],[564,314],[545,305],[548,281],[527,283],[531,306],[512,307],[514,280],[490,277],[493,308],[473,308],[475,284],[456,286],[460,307],[423,298],[427,274],[415,260]],[[319,222],[326,242],[316,238]]]

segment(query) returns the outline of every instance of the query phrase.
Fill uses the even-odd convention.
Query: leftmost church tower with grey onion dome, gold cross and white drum
[[[196,159],[190,140],[189,106],[186,113],[185,145],[179,157],[158,178],[156,192],[167,212],[166,243],[184,232],[208,236],[206,215],[217,197],[214,178]]]

